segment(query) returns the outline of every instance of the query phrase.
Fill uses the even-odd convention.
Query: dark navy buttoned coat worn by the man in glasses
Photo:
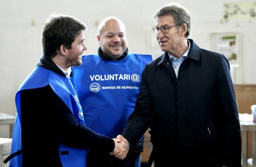
[[[134,146],[150,127],[151,158],[158,166],[240,166],[240,124],[229,63],[189,41],[178,79],[168,53],[146,65],[122,135]]]

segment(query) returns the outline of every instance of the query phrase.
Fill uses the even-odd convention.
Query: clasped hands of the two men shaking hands
[[[129,142],[121,135],[118,135],[113,139],[115,142],[114,151],[110,155],[114,155],[116,158],[124,159],[129,152]]]

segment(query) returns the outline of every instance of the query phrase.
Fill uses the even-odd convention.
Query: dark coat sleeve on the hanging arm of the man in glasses
[[[234,86],[230,76],[228,60],[221,55],[218,64],[219,120],[223,148],[224,166],[241,165],[241,130]]]

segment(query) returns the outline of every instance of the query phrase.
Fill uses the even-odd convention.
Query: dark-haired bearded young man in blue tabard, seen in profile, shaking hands
[[[117,143],[84,125],[74,78],[69,75],[71,66],[82,64],[85,30],[83,23],[69,16],[53,15],[46,21],[44,54],[16,94],[17,118],[6,160],[11,159],[11,167],[84,167],[88,149],[119,150],[119,158],[126,157],[127,140]]]

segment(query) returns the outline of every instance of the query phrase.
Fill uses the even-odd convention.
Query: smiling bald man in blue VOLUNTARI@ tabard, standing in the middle
[[[100,47],[95,55],[82,57],[82,66],[73,68],[78,98],[85,124],[95,132],[110,138],[123,132],[134,110],[140,90],[140,76],[151,55],[128,53],[125,25],[115,17],[104,19],[97,35]],[[109,152],[91,149],[87,167],[140,166],[143,134],[130,156],[119,160]],[[104,157],[102,161],[98,157]]]

